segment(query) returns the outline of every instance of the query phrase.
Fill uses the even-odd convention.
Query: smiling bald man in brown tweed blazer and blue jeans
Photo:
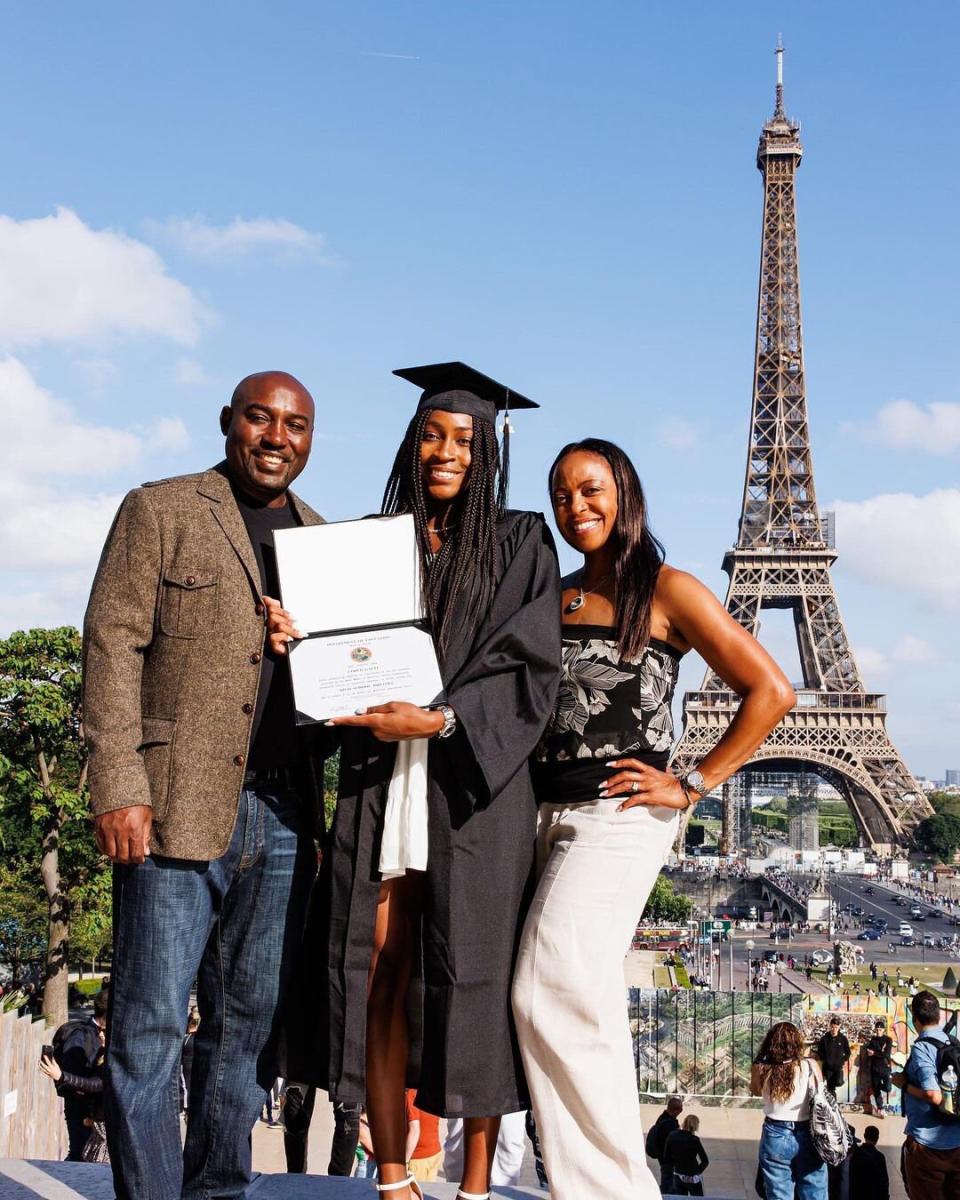
[[[313,401],[263,372],[221,414],[226,461],[120,506],[84,623],[97,844],[114,866],[104,1092],[119,1200],[242,1195],[316,869],[316,781],[289,667],[264,643],[272,532],[322,518],[288,491]],[[186,1145],[180,1050],[197,982]]]

